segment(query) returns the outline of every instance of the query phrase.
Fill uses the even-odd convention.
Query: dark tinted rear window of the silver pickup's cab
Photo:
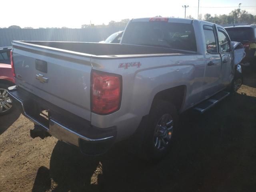
[[[196,52],[196,38],[192,24],[130,22],[127,26],[122,43]]]

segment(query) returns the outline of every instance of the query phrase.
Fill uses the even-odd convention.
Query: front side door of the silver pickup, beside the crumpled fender
[[[222,28],[218,27],[218,44],[222,60],[221,65],[221,87],[225,88],[234,77],[234,65],[232,63],[230,39]]]

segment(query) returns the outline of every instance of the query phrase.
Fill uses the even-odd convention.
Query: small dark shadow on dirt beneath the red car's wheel
[[[0,135],[5,132],[20,116],[20,110],[15,108],[11,113],[0,116]]]

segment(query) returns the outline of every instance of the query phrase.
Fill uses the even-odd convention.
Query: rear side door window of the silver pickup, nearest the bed
[[[204,38],[207,52],[217,53],[217,43],[212,26],[204,25]]]

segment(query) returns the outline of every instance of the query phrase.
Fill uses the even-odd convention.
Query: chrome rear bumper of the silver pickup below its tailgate
[[[86,143],[87,144],[90,143],[89,146],[91,148],[93,148],[92,144],[97,143],[97,148],[99,148],[99,145],[98,145],[99,143],[102,143],[103,145],[106,145],[106,143],[108,143],[111,145],[114,142],[115,134],[105,136],[102,138],[98,138],[98,137],[90,138],[88,136],[79,134],[78,132],[76,132],[74,130],[71,130],[70,128],[64,126],[63,124],[59,123],[55,119],[54,120],[51,119],[50,117],[49,117],[49,126],[46,126],[45,124],[40,122],[40,120],[34,118],[32,115],[30,115],[26,112],[26,110],[25,110],[26,107],[24,106],[24,103],[31,99],[29,95],[22,94],[22,92],[20,92],[16,86],[9,87],[8,94],[10,95],[12,100],[17,101],[21,104],[22,114],[24,114],[24,116],[26,116],[26,118],[28,118],[29,120],[34,122],[34,124],[40,125],[45,131],[47,131],[50,135],[54,136],[58,140],[61,140],[68,144],[72,144],[74,146],[78,146],[80,148],[81,148],[81,146],[87,148]],[[94,134],[94,136],[95,136],[95,134]],[[106,146],[104,146],[103,148],[106,148]],[[82,150],[82,152],[84,152],[85,149],[81,148],[81,150]],[[90,149],[90,151],[92,152],[92,149]],[[88,154],[86,152],[84,152],[84,153]],[[95,152],[95,154],[101,154],[101,153],[103,153],[103,152]]]

